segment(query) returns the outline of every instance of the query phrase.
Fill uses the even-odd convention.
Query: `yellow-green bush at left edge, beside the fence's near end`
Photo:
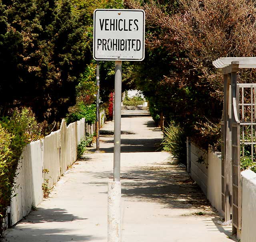
[[[0,118],[0,235],[3,219],[15,188],[16,171],[24,146],[40,138],[31,110],[15,109],[10,117]]]

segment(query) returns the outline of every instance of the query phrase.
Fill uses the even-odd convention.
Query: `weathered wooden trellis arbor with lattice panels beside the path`
[[[221,123],[222,151],[222,210],[225,221],[232,218],[233,232],[240,238],[242,198],[240,156],[250,146],[255,160],[256,144],[256,84],[238,84],[239,68],[256,68],[255,57],[226,57],[213,62],[222,68],[224,105]],[[249,89],[246,90],[245,89]],[[242,150],[241,150],[242,147]]]

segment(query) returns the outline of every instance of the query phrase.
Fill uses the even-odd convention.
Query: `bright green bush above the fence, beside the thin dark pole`
[[[67,125],[81,118],[85,118],[85,122],[88,124],[94,123],[96,120],[96,105],[85,105],[83,102],[79,102],[76,106],[70,108],[66,117]]]

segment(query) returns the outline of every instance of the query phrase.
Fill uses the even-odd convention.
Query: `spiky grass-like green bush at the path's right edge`
[[[180,126],[170,123],[164,128],[162,145],[172,154],[174,161],[186,164],[186,135]]]

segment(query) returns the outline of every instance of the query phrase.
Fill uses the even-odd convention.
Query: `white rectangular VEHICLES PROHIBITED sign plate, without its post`
[[[96,9],[93,26],[95,60],[144,59],[144,10]]]

